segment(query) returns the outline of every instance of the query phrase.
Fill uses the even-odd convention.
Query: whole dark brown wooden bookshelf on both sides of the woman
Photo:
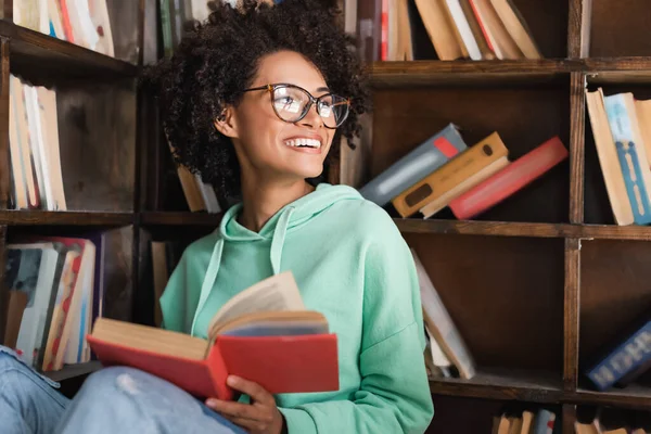
[[[155,105],[135,87],[146,43],[143,15],[153,11],[157,16],[156,2],[139,0],[128,13],[118,11],[119,0],[108,3],[115,16],[128,14],[125,25],[133,31],[126,31],[119,46],[126,53],[136,44],[135,59],[108,58],[16,26],[7,13],[11,1],[4,1],[0,284],[4,245],[13,234],[119,229],[124,232],[119,240],[130,252],[128,267],[118,276],[127,289],[107,294],[108,311],[148,322],[153,303],[144,264],[149,240],[174,237],[188,242],[213,230],[220,216],[188,212],[155,123]],[[646,266],[651,257],[651,228],[614,225],[584,97],[586,86],[651,94],[651,42],[643,24],[651,12],[646,0],[514,3],[546,59],[369,65],[374,112],[368,129],[374,140],[372,152],[363,158],[366,180],[448,122],[465,129],[468,143],[498,130],[513,156],[556,133],[570,150],[564,164],[475,220],[394,216],[429,273],[436,277],[434,283],[477,360],[478,372],[471,380],[431,381],[437,407],[433,432],[447,432],[458,423],[456,418],[471,411],[469,403],[486,410],[482,419],[486,423],[481,425],[488,426],[485,432],[498,405],[512,400],[554,406],[564,434],[574,432],[577,405],[651,411],[651,376],[624,390],[597,393],[583,382],[580,372],[582,359],[609,333],[651,306]],[[620,31],[623,23],[627,31]],[[95,131],[100,140],[62,133],[71,138],[62,142],[62,158],[69,167],[90,166],[97,155],[105,161],[100,170],[64,173],[66,187],[71,186],[66,188],[71,210],[7,209],[10,72],[61,87],[63,105],[81,101],[88,113],[100,105],[93,104],[95,86],[103,89],[100,101],[111,108]],[[118,115],[120,104],[127,105],[128,115]],[[66,120],[62,123],[65,129]],[[124,136],[106,133],[113,129]],[[94,156],[84,154],[90,159],[79,161],[84,145],[94,150]],[[107,176],[115,162],[123,171]],[[337,167],[331,173],[331,181],[339,182]],[[0,336],[5,308],[0,297]],[[74,366],[51,376],[75,378],[93,368]]]

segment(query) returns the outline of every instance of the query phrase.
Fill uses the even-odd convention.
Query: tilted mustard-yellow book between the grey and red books
[[[408,217],[508,153],[494,132],[398,194],[393,205],[400,216]]]

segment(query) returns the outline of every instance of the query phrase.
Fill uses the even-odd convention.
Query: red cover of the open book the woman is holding
[[[87,336],[104,366],[129,366],[176,384],[191,395],[233,399],[229,374],[271,394],[339,390],[335,334],[219,336],[205,360],[168,356]]]

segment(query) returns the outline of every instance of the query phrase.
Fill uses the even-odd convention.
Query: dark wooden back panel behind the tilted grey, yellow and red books
[[[448,123],[472,145],[498,131],[514,159],[554,135],[569,146],[569,87],[379,90],[374,93],[371,176],[380,174]],[[562,222],[569,217],[569,164],[477,217]]]

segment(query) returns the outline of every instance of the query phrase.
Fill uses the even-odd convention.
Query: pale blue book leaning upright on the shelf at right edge
[[[620,167],[624,175],[626,194],[633,208],[633,218],[636,225],[651,224],[651,204],[649,201],[648,186],[644,178],[650,179],[647,163],[647,153],[642,143],[636,142],[634,133],[635,113],[626,108],[625,93],[604,97],[605,113],[615,142]]]

